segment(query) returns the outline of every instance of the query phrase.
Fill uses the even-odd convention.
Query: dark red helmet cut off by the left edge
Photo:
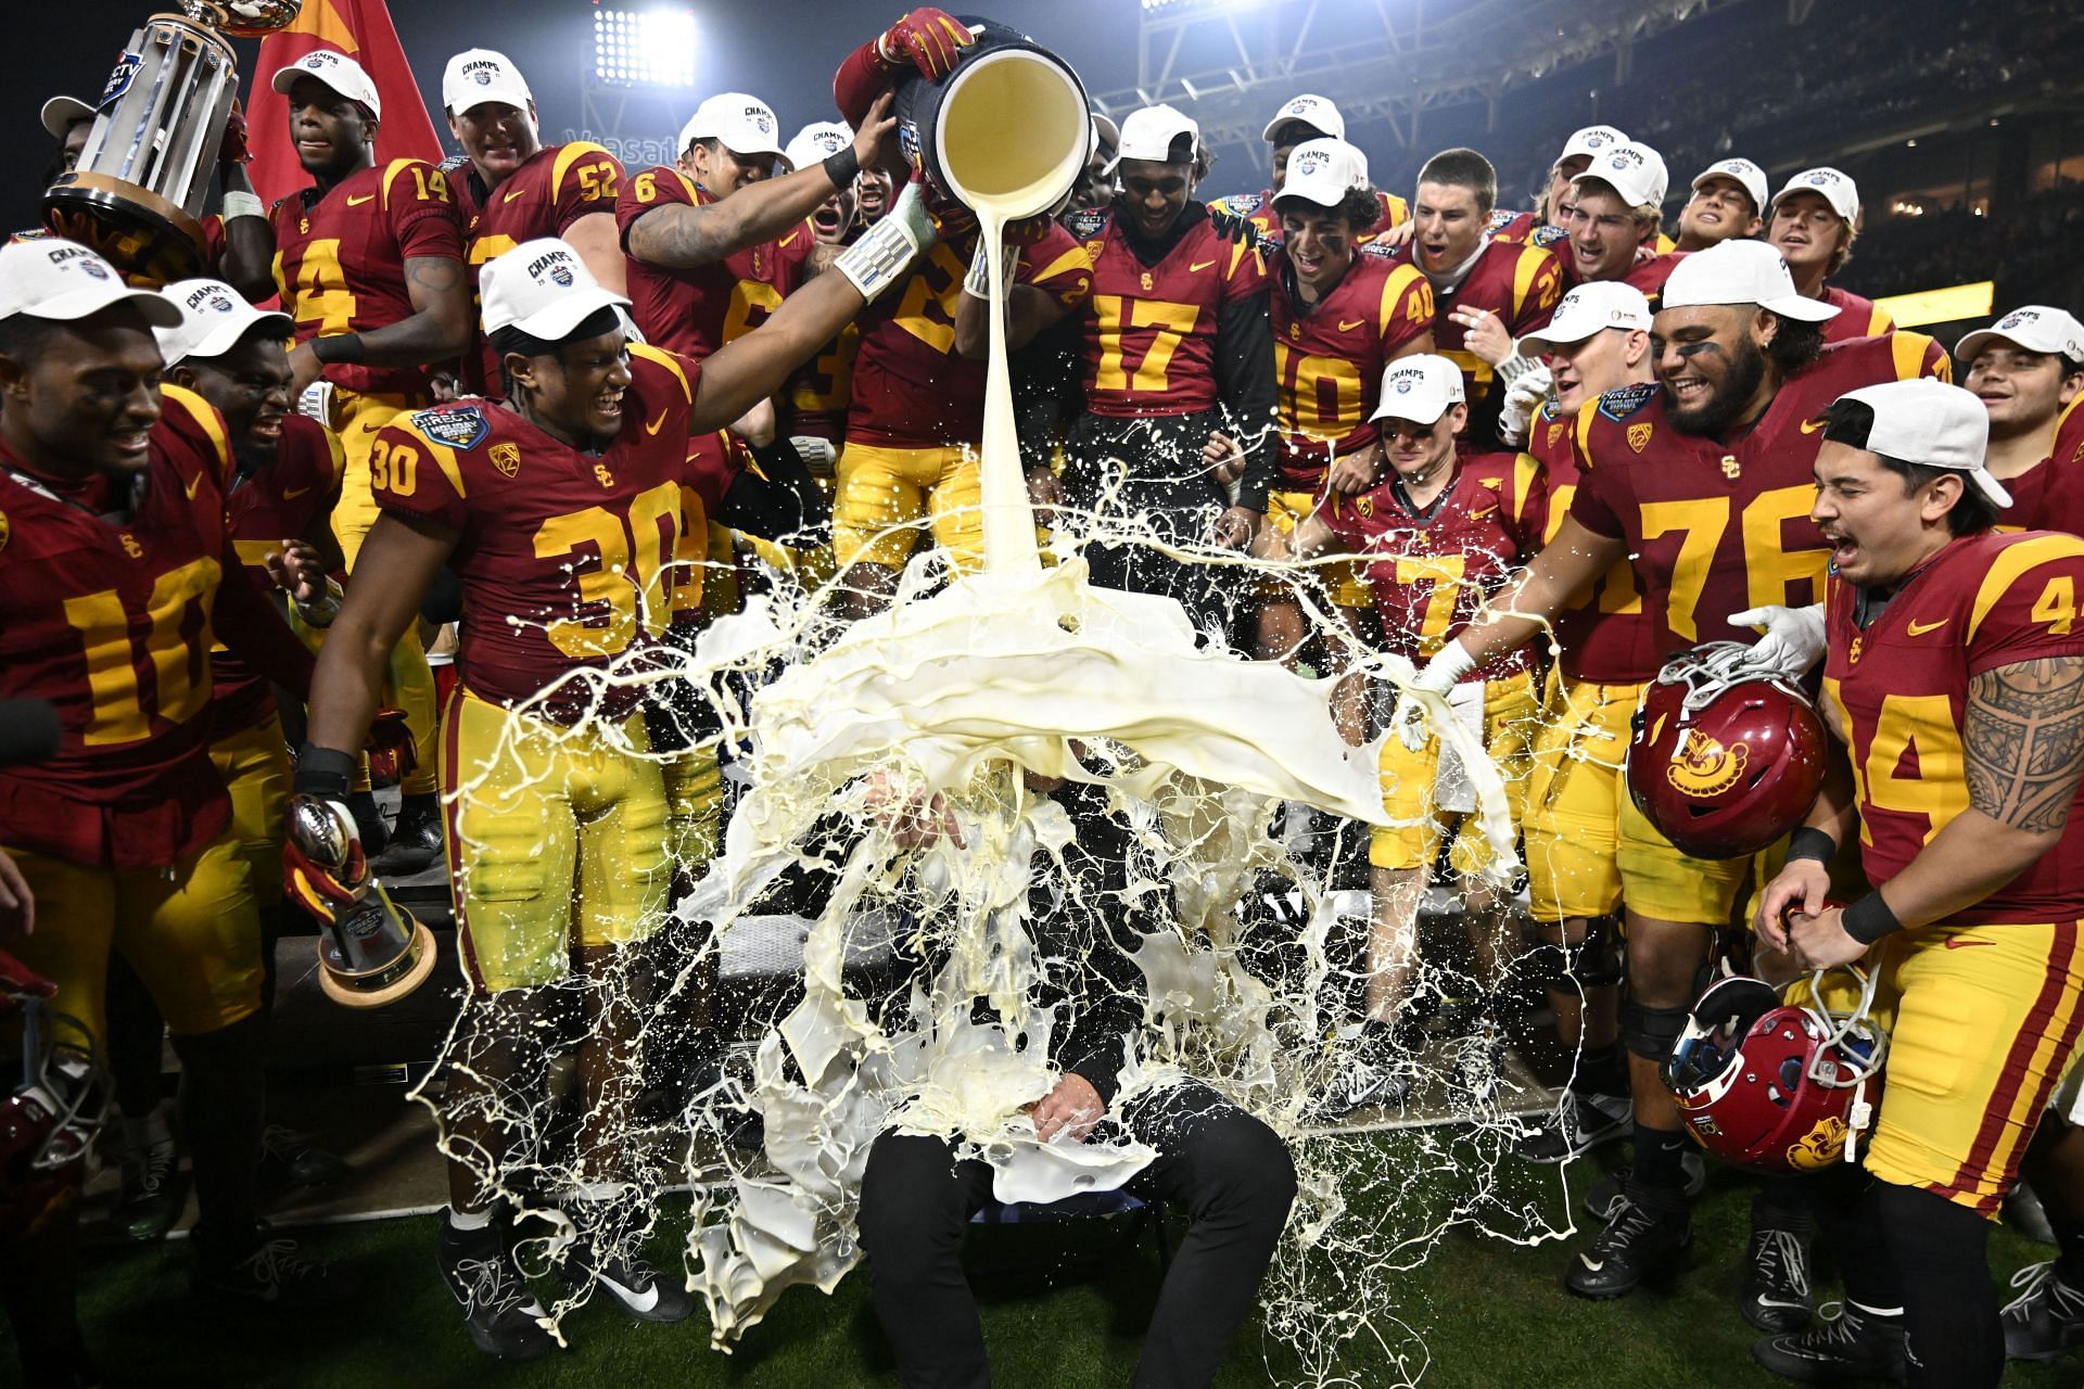
[[[50,1012],[54,991],[0,950],[0,1016],[21,1012],[21,1079],[0,1100],[0,1239],[35,1224],[79,1181],[108,1108],[92,1054],[50,1037],[54,1020],[77,1029]]]

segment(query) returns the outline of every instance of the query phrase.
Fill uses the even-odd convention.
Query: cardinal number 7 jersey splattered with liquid
[[[1540,546],[1540,475],[1513,454],[1457,450],[1455,481],[1419,514],[1396,481],[1359,496],[1330,494],[1323,516],[1363,573],[1388,650],[1423,664],[1478,618],[1519,560]],[[1519,648],[1465,679],[1532,668]]]

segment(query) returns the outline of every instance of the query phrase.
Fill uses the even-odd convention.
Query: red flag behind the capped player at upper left
[[[254,62],[246,123],[254,154],[250,173],[260,202],[273,204],[311,185],[311,175],[290,144],[290,98],[271,83],[275,73],[315,48],[331,48],[354,58],[377,83],[377,98],[383,102],[377,160],[442,162],[442,142],[433,133],[433,121],[427,119],[427,104],[419,96],[419,83],[413,81],[413,69],[404,60],[398,29],[383,0],[304,0],[294,25],[260,40],[260,58]]]

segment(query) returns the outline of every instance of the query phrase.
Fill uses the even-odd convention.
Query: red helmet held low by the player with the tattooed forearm
[[[1853,1012],[1821,1002],[1824,970],[1807,979],[1798,1004],[1744,975],[1701,993],[1663,1072],[1701,1147],[1765,1172],[1817,1172],[1857,1158],[1880,1102],[1888,1035],[1867,1016],[1876,977],[1851,973],[1861,985]]]

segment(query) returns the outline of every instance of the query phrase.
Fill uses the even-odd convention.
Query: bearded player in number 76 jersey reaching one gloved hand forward
[[[1434,700],[1532,639],[1623,558],[1634,560],[1651,637],[1628,671],[1632,683],[1653,679],[1667,652],[1696,641],[1757,639],[1753,625],[1771,631],[1746,660],[1807,671],[1819,646],[1794,610],[1815,602],[1830,558],[1807,521],[1815,421],[1846,389],[1949,373],[1938,346],[1915,333],[1826,350],[1821,323],[1834,312],[1794,292],[1765,242],[1723,242],[1680,260],[1655,321],[1657,383],[1609,392],[1586,408],[1571,444],[1580,479],[1569,514],[1509,602],[1425,664],[1396,704],[1398,733],[1423,743]],[[1748,870],[1746,860],[1680,854],[1632,800],[1619,810],[1634,1166],[1628,1199],[1567,1274],[1584,1297],[1632,1291],[1692,1239],[1688,1139],[1657,1070]]]

